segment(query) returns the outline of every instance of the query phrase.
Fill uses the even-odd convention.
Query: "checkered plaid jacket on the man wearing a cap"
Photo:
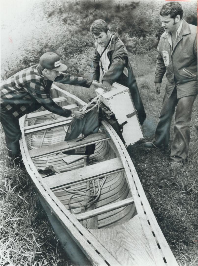
[[[92,83],[85,78],[63,73],[54,81],[86,88]],[[16,118],[41,106],[52,113],[69,117],[72,111],[60,107],[50,97],[52,83],[53,81],[44,80],[38,65],[21,70],[1,83],[1,108]]]

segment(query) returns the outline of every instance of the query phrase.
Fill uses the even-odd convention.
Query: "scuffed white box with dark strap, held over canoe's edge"
[[[99,95],[103,92],[102,88],[96,89]],[[144,139],[144,134],[140,126],[138,115],[134,107],[129,88],[113,83],[113,88],[109,92],[103,93],[101,102],[115,114],[119,124],[127,123],[123,126],[122,136],[125,140],[125,146],[129,146]]]

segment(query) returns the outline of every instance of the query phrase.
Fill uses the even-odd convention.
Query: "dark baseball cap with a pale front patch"
[[[60,63],[60,57],[56,53],[47,52],[44,53],[39,60],[40,65],[44,68],[57,70],[57,71],[65,71],[67,70],[67,66]]]

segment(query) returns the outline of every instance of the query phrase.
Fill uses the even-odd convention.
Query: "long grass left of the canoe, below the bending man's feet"
[[[0,265],[65,265],[59,241],[27,172],[5,166],[1,136]]]

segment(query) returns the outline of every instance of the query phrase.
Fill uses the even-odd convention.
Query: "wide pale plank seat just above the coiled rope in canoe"
[[[49,176],[44,178],[44,181],[49,188],[63,185],[70,186],[74,183],[83,183],[87,180],[93,180],[123,170],[124,167],[120,158],[114,158],[97,164],[88,165],[84,168],[74,169],[66,173]]]

